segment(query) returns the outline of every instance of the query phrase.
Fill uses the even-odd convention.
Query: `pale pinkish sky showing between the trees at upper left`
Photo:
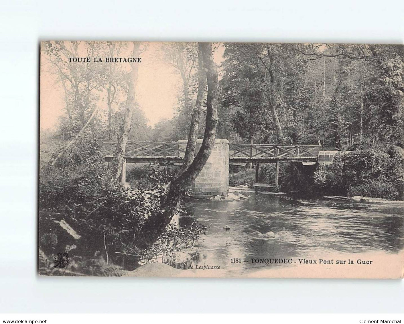
[[[139,76],[136,85],[136,101],[145,113],[148,124],[153,126],[162,119],[174,116],[178,105],[178,95],[181,92],[181,76],[175,68],[166,63],[161,50],[162,43],[151,42],[141,45],[141,63],[139,63]],[[131,43],[128,45],[132,48]],[[220,44],[214,53],[217,65],[223,61],[224,46]],[[131,55],[120,55],[122,57]],[[97,63],[90,63],[97,64]],[[114,63],[126,64],[129,63]],[[40,74],[40,125],[41,129],[53,129],[57,126],[59,118],[65,114],[65,94],[58,82],[58,77],[50,73],[49,64],[41,54]],[[107,109],[106,98],[99,97],[101,109]]]

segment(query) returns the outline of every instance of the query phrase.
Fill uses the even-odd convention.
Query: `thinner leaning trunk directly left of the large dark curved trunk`
[[[203,99],[206,88],[206,72],[204,71],[203,59],[200,54],[202,51],[202,43],[198,44],[198,95],[196,96],[196,103],[194,113],[191,118],[191,127],[189,128],[187,148],[185,149],[184,162],[182,164],[180,174],[182,174],[194,161],[196,140],[198,139],[199,121],[202,115]]]

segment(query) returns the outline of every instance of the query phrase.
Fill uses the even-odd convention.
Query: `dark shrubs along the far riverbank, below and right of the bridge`
[[[275,164],[261,164],[259,182],[274,184]],[[233,185],[251,184],[254,170],[230,175]],[[247,179],[248,178],[248,179]],[[367,196],[402,200],[404,189],[404,151],[388,145],[337,154],[328,166],[303,166],[280,162],[281,191],[299,195]]]

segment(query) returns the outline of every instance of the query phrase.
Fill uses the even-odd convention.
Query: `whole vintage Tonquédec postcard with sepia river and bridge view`
[[[404,46],[40,44],[44,276],[403,278]]]

